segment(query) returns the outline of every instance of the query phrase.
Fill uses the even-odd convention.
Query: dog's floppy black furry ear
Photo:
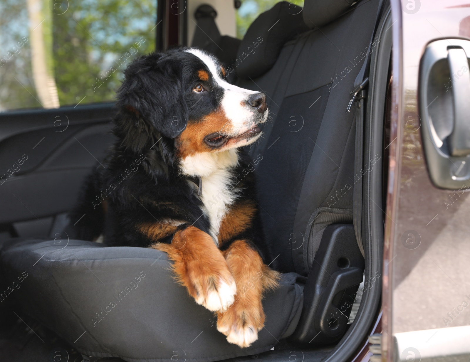
[[[134,114],[170,139],[186,128],[188,107],[184,100],[178,62],[170,54],[151,53],[133,61],[118,90],[119,110]]]

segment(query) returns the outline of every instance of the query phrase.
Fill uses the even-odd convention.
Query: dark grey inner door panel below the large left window
[[[112,104],[0,115],[8,125],[0,134],[2,230],[13,223],[18,236],[49,235],[113,142],[111,116]]]

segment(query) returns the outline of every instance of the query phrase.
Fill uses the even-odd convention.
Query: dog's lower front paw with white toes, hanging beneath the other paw
[[[245,301],[246,302],[246,301]],[[250,347],[258,339],[258,331],[264,326],[265,315],[261,302],[243,306],[236,300],[232,307],[217,316],[217,330],[227,336],[227,341],[239,347]]]

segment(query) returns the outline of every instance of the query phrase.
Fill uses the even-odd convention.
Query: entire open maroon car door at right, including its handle
[[[383,360],[468,361],[470,4],[391,3]]]

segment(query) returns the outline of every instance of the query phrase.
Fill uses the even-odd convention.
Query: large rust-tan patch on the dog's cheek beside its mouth
[[[200,121],[189,120],[185,130],[175,139],[178,155],[184,159],[191,154],[219,150],[207,145],[204,138],[232,132],[232,123],[220,108]]]

